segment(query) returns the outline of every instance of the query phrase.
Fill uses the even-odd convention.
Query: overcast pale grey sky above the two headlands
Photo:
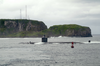
[[[88,26],[100,34],[100,0],[0,0],[0,19],[31,19],[53,25]]]

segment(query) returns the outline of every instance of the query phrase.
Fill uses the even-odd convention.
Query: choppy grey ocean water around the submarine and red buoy
[[[91,40],[89,43],[88,40]],[[21,44],[21,42],[36,42]],[[100,35],[93,37],[0,38],[0,66],[100,66]]]

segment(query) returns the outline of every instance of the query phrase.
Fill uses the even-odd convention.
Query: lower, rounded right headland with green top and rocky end
[[[75,24],[51,26],[49,34],[50,36],[92,37],[89,27]]]

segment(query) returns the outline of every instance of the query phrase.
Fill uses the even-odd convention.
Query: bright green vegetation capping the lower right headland
[[[69,24],[69,25],[54,25],[54,26],[51,26],[49,28],[49,30],[51,30],[56,35],[64,35],[65,31],[67,29],[69,29],[69,30],[79,30],[79,29],[84,30],[84,28],[87,28],[87,27],[76,25],[76,24]]]

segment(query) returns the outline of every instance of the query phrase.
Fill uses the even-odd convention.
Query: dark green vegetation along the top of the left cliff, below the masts
[[[9,31],[14,30],[13,28],[7,29],[7,26],[4,25],[5,21],[14,21],[16,23],[24,24],[24,26],[23,26],[24,30],[27,27],[28,22],[30,22],[30,21],[31,21],[31,23],[33,25],[37,25],[38,26],[40,24],[39,21],[37,21],[37,20],[27,20],[27,19],[0,19],[0,32],[4,32],[5,30],[9,30]],[[10,23],[7,24],[7,25],[9,26]],[[11,26],[13,26],[13,25],[11,25]]]

